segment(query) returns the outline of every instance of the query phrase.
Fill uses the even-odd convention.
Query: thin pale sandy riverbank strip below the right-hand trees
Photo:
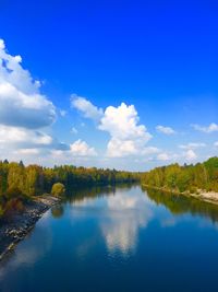
[[[185,197],[192,197],[192,198],[195,198],[197,200],[218,205],[218,192],[216,192],[216,191],[206,191],[206,190],[199,189],[197,191],[197,194],[194,194],[194,192],[190,192],[190,191],[177,191],[177,190],[172,190],[172,189],[154,187],[154,186],[148,186],[148,185],[142,185],[142,186],[145,188],[152,188],[152,189],[160,190],[164,192],[170,192],[170,194],[174,194],[174,195],[182,195]]]

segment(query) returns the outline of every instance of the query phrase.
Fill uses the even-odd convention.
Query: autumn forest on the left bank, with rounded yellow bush
[[[116,170],[85,168],[74,165],[25,166],[23,162],[0,161],[0,218],[22,211],[25,202],[36,196],[72,194],[77,187],[107,186],[140,180],[140,173]]]

